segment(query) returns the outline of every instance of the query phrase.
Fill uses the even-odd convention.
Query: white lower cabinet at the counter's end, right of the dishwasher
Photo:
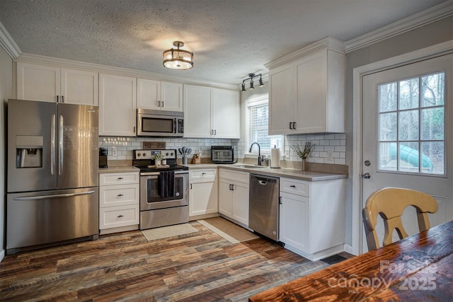
[[[280,178],[280,241],[312,261],[343,251],[345,179]]]

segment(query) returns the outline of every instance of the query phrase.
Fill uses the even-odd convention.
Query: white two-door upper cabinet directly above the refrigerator
[[[98,105],[98,73],[17,63],[17,98]]]

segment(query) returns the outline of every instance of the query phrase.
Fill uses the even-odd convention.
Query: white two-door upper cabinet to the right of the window
[[[269,134],[345,131],[344,43],[327,37],[269,69]]]

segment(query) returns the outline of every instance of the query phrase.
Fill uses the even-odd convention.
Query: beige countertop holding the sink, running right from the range
[[[226,168],[231,170],[239,170],[260,175],[277,176],[281,178],[295,178],[299,180],[308,181],[322,181],[322,180],[335,180],[340,178],[348,178],[348,175],[338,173],[325,173],[316,171],[302,171],[300,169],[292,168],[269,168],[269,167],[257,167],[256,165],[234,163],[232,165],[217,165],[214,163],[200,163],[197,165],[188,164],[190,169],[202,169],[202,168]]]

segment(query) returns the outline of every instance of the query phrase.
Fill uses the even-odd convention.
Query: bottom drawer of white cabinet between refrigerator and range
[[[139,205],[99,209],[99,229],[139,224]]]

